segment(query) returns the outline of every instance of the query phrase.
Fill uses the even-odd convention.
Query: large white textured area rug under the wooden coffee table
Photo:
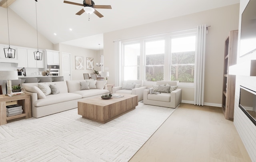
[[[1,162],[127,162],[175,109],[139,105],[106,124],[72,109],[0,126]]]

